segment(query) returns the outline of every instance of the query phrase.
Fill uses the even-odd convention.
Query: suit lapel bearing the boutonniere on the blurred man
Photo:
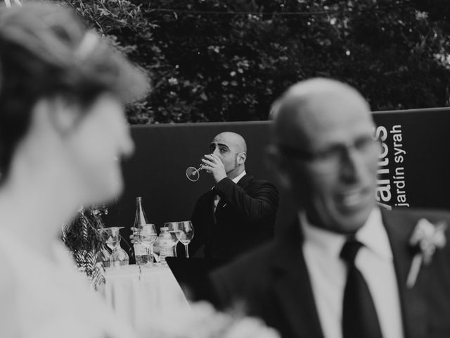
[[[415,224],[407,220],[398,211],[383,211],[383,223],[386,227],[392,254],[394,268],[397,275],[401,314],[403,318],[404,337],[426,337],[426,302],[425,288],[427,285],[427,269],[420,269],[418,280],[413,289],[406,289],[406,278],[411,268],[413,253],[409,250],[408,242]],[[409,223],[409,224],[408,224]]]

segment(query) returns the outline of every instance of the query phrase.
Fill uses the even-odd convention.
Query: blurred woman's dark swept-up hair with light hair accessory
[[[148,86],[140,70],[65,6],[0,6],[1,179],[40,99],[62,96],[88,107],[108,92],[125,103]]]

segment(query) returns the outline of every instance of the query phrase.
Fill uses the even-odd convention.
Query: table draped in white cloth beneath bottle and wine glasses
[[[168,267],[123,266],[106,272],[103,296],[120,316],[139,333],[151,320],[168,320],[174,311],[190,311],[189,303]]]

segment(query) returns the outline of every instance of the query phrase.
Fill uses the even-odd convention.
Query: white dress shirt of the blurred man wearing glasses
[[[303,255],[323,334],[326,338],[342,338],[347,266],[340,258],[340,251],[346,237],[314,227],[304,213],[300,213],[300,224],[304,234]],[[364,226],[356,232],[356,239],[364,246],[359,249],[355,265],[368,284],[383,337],[404,337],[392,250],[378,208],[373,209]]]

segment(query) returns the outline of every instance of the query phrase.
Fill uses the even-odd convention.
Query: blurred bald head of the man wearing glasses
[[[380,144],[363,96],[316,78],[294,84],[274,118],[272,158],[278,178],[312,224],[352,233],[375,206]]]

